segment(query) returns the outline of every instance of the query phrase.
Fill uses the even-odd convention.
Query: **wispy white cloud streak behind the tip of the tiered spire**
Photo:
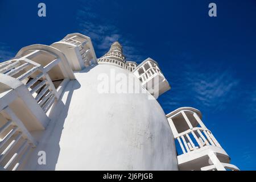
[[[141,62],[146,57],[142,56],[139,44],[133,44],[132,36],[123,35],[112,20],[104,19],[93,11],[93,4],[82,6],[77,12],[77,22],[80,32],[92,39],[98,55],[102,56],[108,51],[111,44],[119,41],[127,60]]]

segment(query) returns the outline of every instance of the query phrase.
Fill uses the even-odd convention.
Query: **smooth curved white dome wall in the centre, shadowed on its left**
[[[26,169],[177,170],[174,137],[162,107],[147,94],[100,94],[100,64],[75,73],[55,105]],[[134,76],[135,77],[135,76]],[[136,82],[139,80],[136,78]],[[39,165],[38,151],[46,151]]]

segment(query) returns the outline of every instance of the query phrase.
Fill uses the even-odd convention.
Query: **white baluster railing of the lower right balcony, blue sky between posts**
[[[183,154],[204,146],[221,147],[210,130],[201,127],[194,127],[193,129],[188,129],[187,131],[177,134],[175,140],[179,142]]]

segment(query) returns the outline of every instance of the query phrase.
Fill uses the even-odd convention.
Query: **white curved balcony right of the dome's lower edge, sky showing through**
[[[174,139],[180,170],[238,170],[212,132],[201,121],[201,112],[180,107],[166,115]]]

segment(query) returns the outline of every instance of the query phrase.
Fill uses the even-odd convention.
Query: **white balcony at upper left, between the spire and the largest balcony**
[[[88,36],[79,33],[68,34],[51,46],[64,53],[73,71],[80,71],[89,65],[97,64],[92,41]]]

